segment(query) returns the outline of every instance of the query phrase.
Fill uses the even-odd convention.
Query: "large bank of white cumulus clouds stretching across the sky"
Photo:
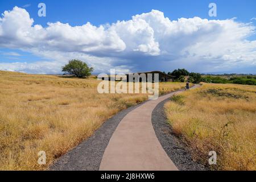
[[[0,47],[22,49],[46,58],[35,63],[5,63],[0,69],[33,73],[58,73],[68,59],[82,59],[96,72],[177,67],[197,72],[237,70],[256,63],[256,41],[252,24],[236,19],[208,20],[199,17],[171,20],[163,12],[135,15],[130,20],[93,26],[71,26],[61,22],[47,27],[34,24],[30,14],[14,7],[0,19]],[[242,70],[241,70],[242,71]]]

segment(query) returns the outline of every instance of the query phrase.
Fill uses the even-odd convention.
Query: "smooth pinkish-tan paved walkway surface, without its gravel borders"
[[[166,94],[130,111],[114,131],[101,160],[100,170],[178,170],[155,135],[151,114],[156,105],[180,92]]]

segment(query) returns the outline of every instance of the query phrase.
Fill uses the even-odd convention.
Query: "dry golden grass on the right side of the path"
[[[166,104],[176,135],[195,159],[208,164],[217,152],[218,170],[256,170],[256,86],[203,84]]]

